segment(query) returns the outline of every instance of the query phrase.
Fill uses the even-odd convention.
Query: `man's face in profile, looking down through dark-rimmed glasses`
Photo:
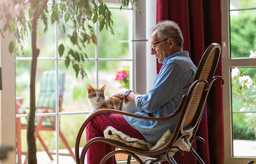
[[[157,43],[161,41],[161,39],[159,39],[157,37],[157,34],[156,32],[152,34],[152,37],[151,37],[151,42],[150,42],[150,45],[151,44],[154,44],[154,43]],[[158,44],[155,45],[155,48],[151,49],[151,55],[155,55],[156,56],[156,59],[158,59],[158,63],[163,63],[164,59],[169,57],[169,45],[168,45],[168,40],[166,41],[163,41],[163,42],[160,42]]]

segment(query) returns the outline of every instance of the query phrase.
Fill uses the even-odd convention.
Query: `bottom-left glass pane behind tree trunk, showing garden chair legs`
[[[56,160],[56,155],[48,155],[46,151],[56,152],[56,131],[55,131],[55,116],[49,116],[51,121],[45,121],[45,117],[36,116],[35,125],[38,125],[39,120],[42,119],[43,123],[40,129],[35,128],[35,137],[36,137],[36,157],[37,162],[40,164],[44,163],[56,163],[53,160]],[[16,128],[16,162],[24,163],[26,160],[27,152],[27,118],[16,118],[17,128]]]

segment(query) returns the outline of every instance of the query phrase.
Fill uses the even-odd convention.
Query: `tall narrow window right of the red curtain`
[[[256,4],[222,2],[225,163],[256,158]]]

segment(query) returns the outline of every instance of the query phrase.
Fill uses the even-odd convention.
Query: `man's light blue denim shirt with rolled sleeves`
[[[164,59],[153,88],[147,94],[136,96],[135,103],[139,111],[135,114],[149,117],[166,117],[172,114],[179,106],[182,96],[187,94],[196,70],[187,51],[174,53]],[[124,118],[147,142],[155,145],[167,129],[173,133],[178,115],[166,121],[150,121],[129,116]]]

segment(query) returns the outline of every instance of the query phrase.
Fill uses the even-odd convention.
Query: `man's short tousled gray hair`
[[[153,34],[157,32],[157,37],[160,40],[164,40],[166,38],[173,38],[177,46],[183,48],[183,37],[179,26],[172,20],[163,20],[158,22],[156,25],[149,29],[149,34]]]

